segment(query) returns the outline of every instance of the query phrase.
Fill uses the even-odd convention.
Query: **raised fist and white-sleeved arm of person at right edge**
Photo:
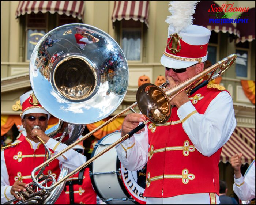
[[[230,163],[234,169],[234,193],[242,201],[255,199],[255,160],[246,170],[245,177],[241,174],[242,153],[233,155]]]

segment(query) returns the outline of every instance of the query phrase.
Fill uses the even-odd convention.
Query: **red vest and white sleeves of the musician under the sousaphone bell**
[[[46,145],[52,154],[56,154],[67,147],[67,145],[59,143],[52,138],[48,140]],[[35,143],[28,138],[25,138],[18,145],[1,152],[1,202],[14,198],[10,193],[12,187],[10,185],[15,181],[22,181],[24,183],[32,181],[31,171],[44,162],[44,157],[44,146],[40,142]],[[84,162],[86,162],[86,156],[71,149],[53,160],[49,166],[46,166],[44,174],[52,174],[57,180],[61,164],[73,171]],[[65,192],[63,191],[55,204],[65,203]]]

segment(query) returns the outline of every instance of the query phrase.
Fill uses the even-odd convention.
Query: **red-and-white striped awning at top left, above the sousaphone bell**
[[[18,18],[20,15],[31,14],[31,12],[37,14],[39,11],[42,13],[49,11],[51,14],[57,12],[60,15],[72,15],[81,20],[84,12],[83,5],[84,1],[19,1],[15,16]]]

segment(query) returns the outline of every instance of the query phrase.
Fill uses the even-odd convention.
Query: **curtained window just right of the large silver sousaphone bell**
[[[121,48],[127,61],[142,61],[142,27],[139,20],[121,21]]]

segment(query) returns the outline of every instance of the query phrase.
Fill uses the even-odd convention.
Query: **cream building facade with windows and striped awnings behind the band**
[[[111,115],[120,113],[136,101],[141,76],[148,77],[151,83],[157,83],[165,76],[160,58],[167,41],[165,19],[170,15],[169,1],[49,2],[1,1],[1,136],[8,132],[7,128],[2,129],[7,119],[21,113],[19,96],[31,89],[29,63],[36,43],[57,26],[68,23],[92,25],[108,33],[123,49],[129,66],[129,86],[123,102]],[[241,8],[238,13],[244,16],[229,16],[234,19],[233,23],[220,22],[220,18],[216,18],[217,10],[222,6],[227,8],[227,5],[233,9]],[[211,14],[215,17],[209,17]],[[233,53],[238,56],[218,83],[225,86],[233,98],[237,120],[233,138],[244,138],[246,146],[252,150],[243,161],[249,163],[253,154],[255,158],[255,2],[202,1],[194,18],[194,24],[205,26],[212,32],[208,65]],[[245,30],[248,32],[244,33]],[[138,107],[135,110],[139,112]],[[236,149],[240,150],[238,143],[234,146]],[[224,152],[221,160],[226,163],[230,153]],[[230,166],[220,166],[221,170],[231,171]],[[225,173],[221,173],[221,177],[227,182],[232,180]]]

